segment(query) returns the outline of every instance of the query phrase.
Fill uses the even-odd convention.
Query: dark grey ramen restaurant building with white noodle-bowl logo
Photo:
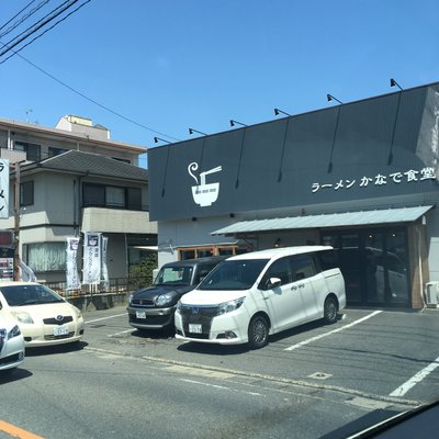
[[[421,307],[438,154],[439,83],[149,149],[159,263],[329,244],[349,303]]]

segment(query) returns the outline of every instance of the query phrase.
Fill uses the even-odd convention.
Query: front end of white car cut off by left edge
[[[15,369],[24,360],[24,339],[16,322],[0,314],[0,371]]]

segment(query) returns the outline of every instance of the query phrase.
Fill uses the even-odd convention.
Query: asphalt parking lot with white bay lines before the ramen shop
[[[123,307],[86,314],[86,349],[206,370],[337,389],[359,396],[409,402],[439,395],[437,311],[346,309],[272,336],[260,350],[181,342],[171,334],[139,333]]]

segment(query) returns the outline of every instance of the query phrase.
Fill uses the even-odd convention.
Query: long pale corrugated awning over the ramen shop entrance
[[[379,211],[342,212],[285,218],[241,221],[212,232],[211,235],[229,235],[250,232],[270,232],[296,228],[365,226],[372,224],[412,223],[420,218],[432,205],[384,209]]]

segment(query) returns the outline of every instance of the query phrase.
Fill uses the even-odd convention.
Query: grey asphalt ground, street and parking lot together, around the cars
[[[79,347],[0,376],[0,439],[341,438],[439,396],[436,311],[348,309],[254,351],[140,334],[123,307],[85,317]]]

